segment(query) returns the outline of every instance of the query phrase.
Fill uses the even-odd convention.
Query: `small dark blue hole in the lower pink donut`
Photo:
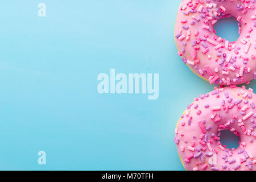
[[[220,142],[229,149],[238,148],[240,145],[240,137],[230,130],[222,130],[220,131]]]

